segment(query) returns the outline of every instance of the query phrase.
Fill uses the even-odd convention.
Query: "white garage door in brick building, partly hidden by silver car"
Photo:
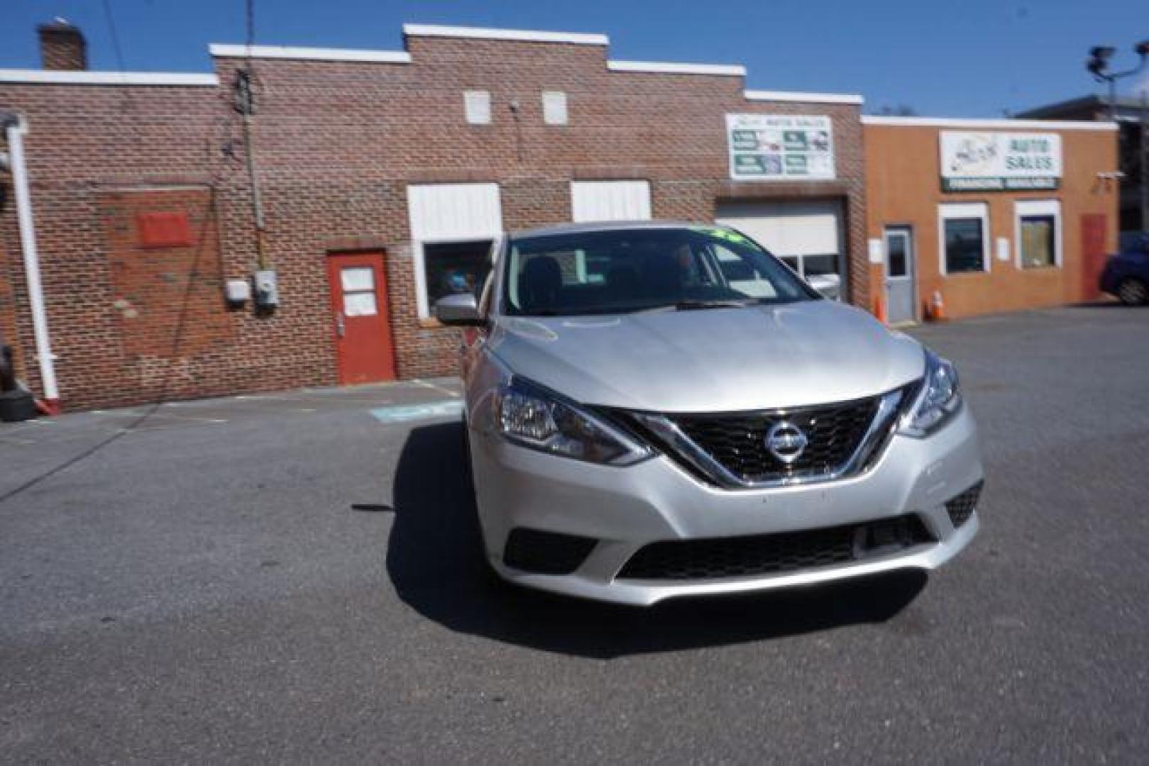
[[[842,208],[835,201],[722,202],[717,220],[755,239],[803,277],[840,274]]]

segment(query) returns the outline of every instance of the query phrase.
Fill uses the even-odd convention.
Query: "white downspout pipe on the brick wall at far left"
[[[20,220],[20,245],[24,252],[24,278],[28,280],[28,302],[32,307],[32,334],[36,338],[36,358],[40,366],[44,401],[48,411],[60,409],[56,388],[55,356],[48,333],[48,315],[44,308],[44,286],[40,284],[40,256],[36,249],[36,227],[32,224],[32,195],[28,187],[28,168],[24,164],[24,134],[28,124],[22,117],[9,115],[3,121],[8,137],[13,186],[16,188],[16,217]]]

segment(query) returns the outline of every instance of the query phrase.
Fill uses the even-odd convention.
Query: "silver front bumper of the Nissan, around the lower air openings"
[[[946,501],[982,480],[977,427],[967,409],[927,439],[894,436],[865,473],[825,483],[759,490],[707,486],[658,456],[626,467],[546,455],[473,431],[471,464],[484,543],[494,570],[518,585],[647,605],[674,596],[728,594],[826,582],[895,568],[935,568],[973,539],[978,518],[956,527]],[[643,546],[840,527],[915,514],[936,542],[845,564],[776,574],[697,580],[617,577]],[[509,567],[503,549],[517,527],[593,537],[570,574]]]

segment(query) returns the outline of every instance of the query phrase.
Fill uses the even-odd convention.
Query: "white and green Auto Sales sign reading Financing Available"
[[[1057,133],[941,132],[943,192],[1051,189],[1061,179]]]

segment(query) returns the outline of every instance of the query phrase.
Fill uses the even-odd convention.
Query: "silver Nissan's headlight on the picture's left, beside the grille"
[[[506,439],[541,452],[609,465],[631,465],[653,454],[574,402],[520,376],[500,386],[494,418]]]

